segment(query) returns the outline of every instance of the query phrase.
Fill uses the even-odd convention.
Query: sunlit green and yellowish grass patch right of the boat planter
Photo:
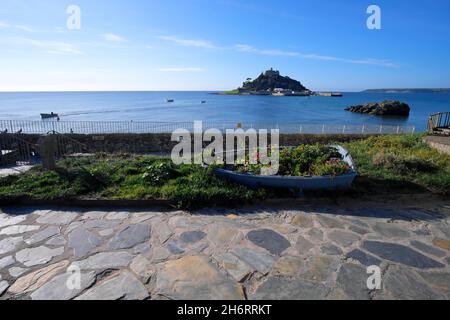
[[[450,156],[430,148],[423,137],[393,135],[344,143],[359,173],[354,190],[450,195]]]

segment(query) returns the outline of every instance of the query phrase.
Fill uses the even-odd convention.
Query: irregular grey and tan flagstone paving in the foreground
[[[450,299],[447,206],[2,208],[0,299]]]

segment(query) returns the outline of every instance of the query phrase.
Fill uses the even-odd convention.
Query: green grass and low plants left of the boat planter
[[[265,190],[250,190],[217,178],[195,165],[174,166],[170,159],[97,154],[67,158],[58,169],[41,166],[0,179],[0,199],[165,199],[179,207],[241,203],[262,199]]]

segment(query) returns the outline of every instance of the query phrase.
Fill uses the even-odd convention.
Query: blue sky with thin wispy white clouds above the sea
[[[226,90],[269,68],[311,90],[450,87],[450,1],[0,0],[0,91]]]

